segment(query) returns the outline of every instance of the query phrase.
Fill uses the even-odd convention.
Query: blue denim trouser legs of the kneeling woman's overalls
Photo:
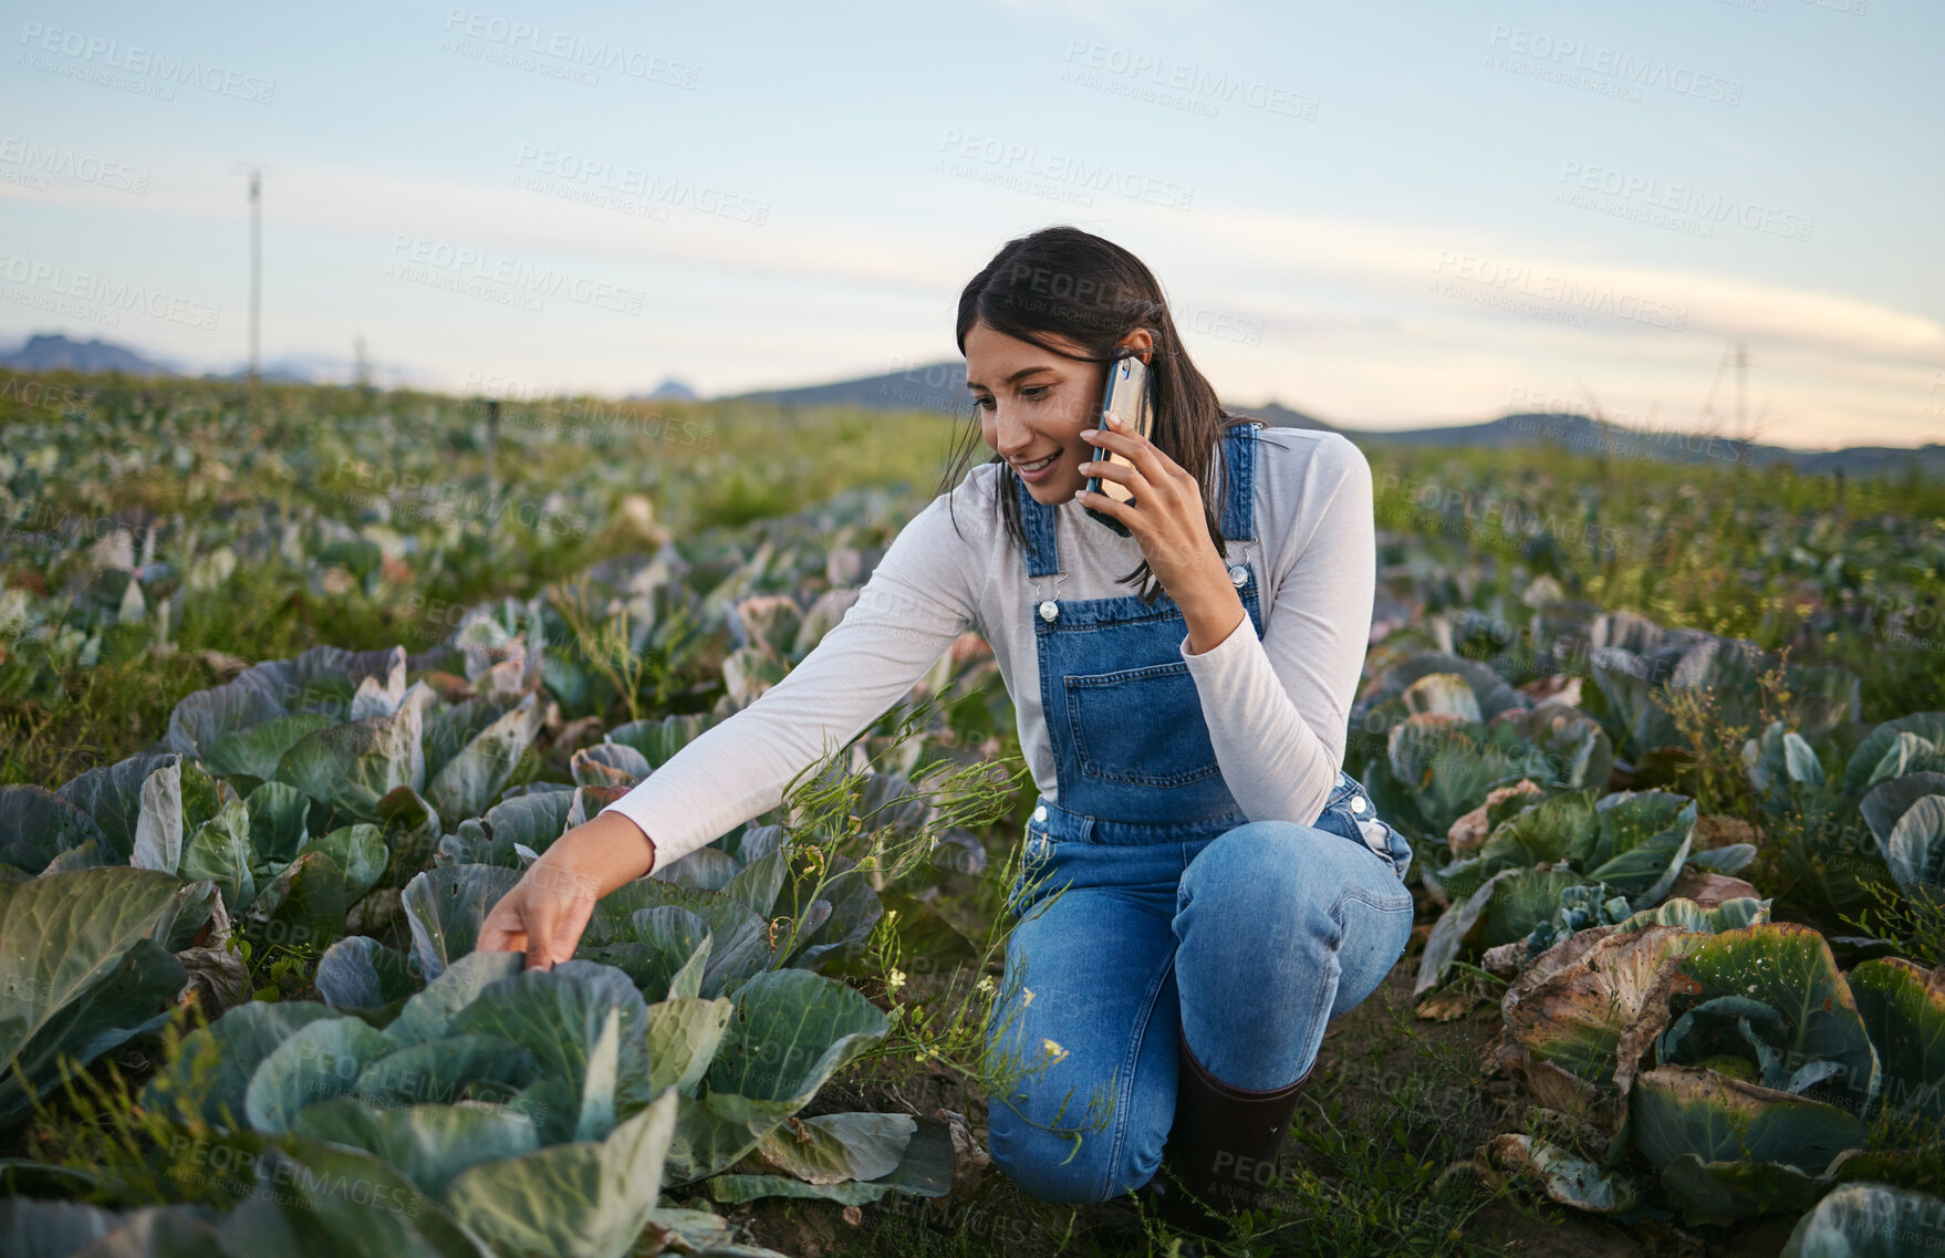
[[[1146,1184],[1175,1118],[1177,1025],[1233,1087],[1309,1071],[1328,1021],[1377,990],[1412,931],[1408,848],[1391,830],[1393,857],[1379,856],[1346,813],[1140,846],[1029,832],[1015,892],[1046,881],[1015,898],[988,1042],[1015,1067],[1054,1052],[1046,1040],[1064,1056],[992,1099],[1009,1178],[1076,1204]]]

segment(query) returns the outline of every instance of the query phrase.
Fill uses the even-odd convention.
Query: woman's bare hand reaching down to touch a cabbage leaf
[[[655,863],[655,844],[620,813],[601,813],[554,840],[480,924],[480,953],[527,953],[529,970],[552,968],[574,949],[595,900]]]

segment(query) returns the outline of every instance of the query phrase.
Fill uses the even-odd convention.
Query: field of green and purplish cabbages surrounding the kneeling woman
[[[984,1151],[1033,784],[963,636],[475,953],[801,661],[937,414],[0,375],[0,1250],[1169,1254]],[[984,451],[980,451],[984,453]],[[1945,484],[1371,445],[1418,927],[1235,1252],[1945,1252]]]

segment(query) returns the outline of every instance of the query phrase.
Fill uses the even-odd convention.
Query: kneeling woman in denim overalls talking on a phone
[[[1054,1202],[1148,1184],[1202,1231],[1177,1186],[1255,1202],[1325,1025],[1412,927],[1410,848],[1338,768],[1371,472],[1342,436],[1223,412],[1148,266],[1076,227],[1008,241],[957,336],[994,457],[899,533],[782,682],[535,861],[480,947],[570,957],[597,896],[776,807],[978,628],[1041,793],[990,1046],[1062,1050],[994,1099],[992,1157]],[[1149,369],[1149,437],[1095,430],[1122,354]],[[1132,502],[1087,494],[1095,474]],[[1107,1122],[1076,1149],[1091,1102]]]

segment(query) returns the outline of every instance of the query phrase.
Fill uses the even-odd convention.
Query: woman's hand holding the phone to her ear
[[[1103,447],[1097,461],[1081,463],[1081,474],[1118,480],[1134,494],[1134,502],[1089,494],[1085,488],[1076,494],[1078,502],[1128,527],[1169,597],[1186,607],[1196,591],[1231,589],[1221,552],[1210,541],[1196,478],[1153,441],[1128,432],[1120,416],[1109,416],[1105,430],[1081,432],[1081,439]],[[1107,451],[1128,463],[1111,463]]]

